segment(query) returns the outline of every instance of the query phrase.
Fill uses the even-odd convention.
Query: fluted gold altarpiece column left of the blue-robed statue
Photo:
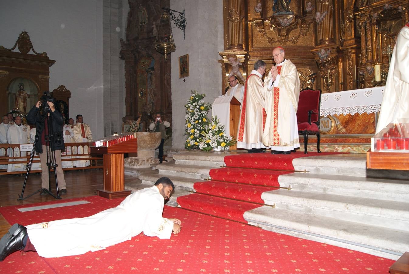
[[[225,6],[225,50],[244,49],[244,2],[224,0]]]

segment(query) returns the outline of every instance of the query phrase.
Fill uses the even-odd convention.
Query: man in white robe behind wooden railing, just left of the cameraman
[[[14,125],[7,131],[7,143],[9,144],[28,144],[30,142],[30,128],[21,124],[21,117],[14,117]],[[10,151],[9,157],[27,156],[27,152],[20,152],[20,147],[14,148],[14,153]],[[25,159],[11,159],[9,161],[24,161]],[[26,164],[9,164],[7,172],[24,171]]]

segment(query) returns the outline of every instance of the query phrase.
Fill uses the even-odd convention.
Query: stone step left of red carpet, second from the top
[[[156,166],[163,176],[187,177],[192,179],[207,179],[211,167],[203,165],[178,165],[175,162],[162,163]]]

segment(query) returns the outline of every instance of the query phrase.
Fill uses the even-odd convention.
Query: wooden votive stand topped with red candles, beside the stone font
[[[124,138],[118,136],[117,139]],[[121,140],[111,139],[111,145],[90,146],[91,154],[103,154],[103,190],[97,189],[98,196],[115,199],[130,195],[124,183],[124,153],[137,153],[137,138]],[[107,143],[107,142],[105,142]]]

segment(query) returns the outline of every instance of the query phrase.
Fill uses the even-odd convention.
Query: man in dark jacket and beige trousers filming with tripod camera
[[[44,106],[40,110],[41,102],[43,102]],[[47,105],[46,105],[47,102]],[[45,115],[44,112],[47,112],[47,118],[44,119]],[[44,121],[42,121],[42,118]],[[46,141],[45,136],[49,135],[48,132],[48,121],[51,118],[51,125],[53,132],[50,133],[54,136],[54,138],[49,138],[49,149],[51,149],[51,157],[55,159],[52,162],[57,165],[54,172],[57,173],[57,180],[58,180],[58,188],[60,189],[61,194],[67,194],[67,187],[65,186],[64,180],[64,172],[61,165],[61,152],[65,152],[65,145],[63,140],[63,125],[64,125],[64,118],[63,115],[55,109],[54,104],[52,102],[47,101],[38,101],[35,106],[29,111],[27,114],[27,122],[34,125],[36,124],[37,134],[39,134],[37,143],[36,143],[36,152],[40,155],[40,163],[41,163],[41,195],[47,195],[45,189],[48,190],[49,181],[48,181],[48,166],[47,166],[47,149],[46,149]],[[44,123],[40,127],[40,125]]]

